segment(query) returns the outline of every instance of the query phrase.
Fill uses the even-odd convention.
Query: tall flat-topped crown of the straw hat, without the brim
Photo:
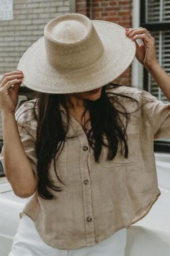
[[[44,28],[46,58],[58,70],[89,67],[103,55],[104,47],[91,20],[82,14],[65,14]]]

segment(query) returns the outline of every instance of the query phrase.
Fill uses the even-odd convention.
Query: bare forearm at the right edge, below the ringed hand
[[[159,63],[156,63],[150,68],[146,68],[170,102],[170,76],[164,71]]]

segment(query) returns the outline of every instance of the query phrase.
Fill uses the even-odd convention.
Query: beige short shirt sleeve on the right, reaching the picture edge
[[[144,109],[150,120],[154,139],[170,137],[170,103],[164,104],[152,94],[142,90]]]

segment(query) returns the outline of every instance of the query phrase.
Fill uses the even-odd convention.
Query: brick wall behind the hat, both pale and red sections
[[[57,15],[70,13],[69,0],[14,0],[14,19],[0,20],[0,76],[17,68],[20,57],[43,36],[45,24]],[[92,19],[131,27],[131,0],[93,0]],[[76,0],[76,13],[90,17],[90,0]],[[120,78],[131,84],[131,67]]]

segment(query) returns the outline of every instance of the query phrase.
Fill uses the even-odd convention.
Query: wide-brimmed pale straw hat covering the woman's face
[[[23,85],[37,92],[75,93],[97,89],[129,67],[135,43],[124,27],[82,14],[50,20],[44,36],[19,61]]]

